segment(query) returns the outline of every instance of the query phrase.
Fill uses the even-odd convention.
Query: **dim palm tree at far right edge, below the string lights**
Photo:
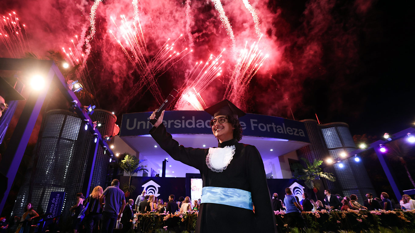
[[[404,138],[392,141],[388,144],[386,144],[386,154],[392,155],[389,156],[391,160],[395,160],[400,162],[400,164],[405,168],[406,174],[408,175],[408,178],[410,182],[412,183],[413,187],[415,188],[415,182],[409,173],[408,166],[405,160],[405,157],[409,157],[411,153],[411,146],[408,146],[408,143],[403,142],[402,140],[405,140]],[[412,151],[413,152],[413,151]]]

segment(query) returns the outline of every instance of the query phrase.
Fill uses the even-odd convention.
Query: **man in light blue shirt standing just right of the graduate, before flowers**
[[[284,219],[286,219],[287,228],[295,226],[298,228],[305,227],[304,218],[301,215],[301,211],[303,211],[303,209],[297,202],[297,199],[295,199],[290,188],[286,188],[286,197],[284,198],[284,205],[287,209],[286,214],[284,214]]]

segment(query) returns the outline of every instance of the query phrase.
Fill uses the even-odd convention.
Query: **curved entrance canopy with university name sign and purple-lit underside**
[[[151,112],[123,114],[120,138],[139,152],[140,156],[151,160],[160,168],[165,158],[168,158],[168,165],[184,168],[186,165],[173,161],[149,135],[153,127],[148,122],[150,115]],[[212,135],[212,128],[209,126],[212,118],[204,111],[166,111],[163,123],[181,145],[209,148],[217,146],[217,139]],[[240,142],[256,146],[264,162],[310,143],[305,125],[300,121],[259,114],[247,114],[240,117],[239,121],[243,130]],[[168,166],[167,170],[169,168]],[[187,173],[198,173],[193,167],[186,166],[186,169]]]

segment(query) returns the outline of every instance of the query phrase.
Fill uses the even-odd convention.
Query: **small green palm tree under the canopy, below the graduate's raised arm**
[[[121,188],[125,192],[125,197],[128,197],[129,194],[135,190],[134,185],[131,185],[132,175],[143,170],[147,172],[149,170],[147,169],[147,165],[139,165],[145,160],[139,160],[137,157],[129,155],[127,152],[122,154],[122,156],[125,157],[120,161],[120,167],[129,175],[129,181],[127,184],[123,184]]]

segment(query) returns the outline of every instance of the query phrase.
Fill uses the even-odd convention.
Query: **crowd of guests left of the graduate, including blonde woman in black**
[[[146,190],[143,190],[135,201],[129,199],[126,202],[125,194],[119,185],[120,182],[115,179],[112,186],[105,190],[97,186],[87,199],[82,193],[76,194],[75,204],[71,207],[74,213],[74,233],[82,229],[88,233],[98,230],[104,233],[112,232],[118,220],[122,223],[121,231],[128,232],[132,229],[136,213],[183,213],[199,210],[200,199],[192,202],[189,197],[179,197],[178,201],[175,201],[172,194],[168,196],[168,201],[163,201],[154,195],[146,195]]]

